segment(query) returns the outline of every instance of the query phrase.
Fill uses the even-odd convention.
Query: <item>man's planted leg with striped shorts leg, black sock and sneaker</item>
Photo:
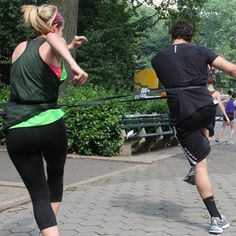
[[[210,144],[200,130],[184,130],[177,128],[176,136],[190,164],[195,166],[195,182],[198,192],[211,216],[210,233],[222,233],[229,227],[228,221],[222,216],[215,204],[212,185],[208,175],[206,157],[210,153]]]

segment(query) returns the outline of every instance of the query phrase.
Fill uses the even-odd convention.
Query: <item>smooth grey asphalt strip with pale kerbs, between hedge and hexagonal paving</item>
[[[109,175],[135,168],[137,164],[152,164],[181,153],[179,147],[149,152],[130,157],[99,157],[68,155],[65,168],[65,190],[77,185],[96,181]],[[86,162],[87,161],[87,162]],[[104,161],[101,163],[101,161]],[[110,164],[109,164],[109,163]],[[117,163],[118,162],[118,163]],[[0,212],[28,202],[29,196],[6,150],[0,151]],[[78,173],[79,172],[79,173]],[[87,172],[87,173],[86,173]],[[91,174],[92,173],[92,174]],[[14,194],[12,194],[14,193]],[[0,235],[1,236],[1,235]]]

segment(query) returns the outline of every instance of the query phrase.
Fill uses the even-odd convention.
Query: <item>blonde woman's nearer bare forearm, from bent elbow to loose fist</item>
[[[84,84],[88,78],[88,74],[79,67],[60,35],[48,33],[46,41],[50,45],[52,51],[62,57],[70,65],[70,68],[75,75],[74,81],[80,85]]]

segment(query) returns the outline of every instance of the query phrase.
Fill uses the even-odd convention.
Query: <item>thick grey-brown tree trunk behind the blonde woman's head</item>
[[[68,43],[70,43],[73,37],[77,35],[79,0],[49,0],[48,2],[49,4],[57,6],[59,12],[62,14],[65,20],[63,37]],[[72,52],[72,55],[75,58],[75,52]],[[68,69],[68,66],[66,67],[68,71],[68,79],[72,79],[73,74]]]

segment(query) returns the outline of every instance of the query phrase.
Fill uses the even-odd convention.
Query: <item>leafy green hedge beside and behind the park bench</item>
[[[91,99],[116,96],[101,86],[70,87],[60,97],[60,104],[78,104]],[[116,102],[78,106],[65,110],[69,151],[83,155],[114,156],[119,152],[120,115],[134,113],[166,113],[165,101]]]

